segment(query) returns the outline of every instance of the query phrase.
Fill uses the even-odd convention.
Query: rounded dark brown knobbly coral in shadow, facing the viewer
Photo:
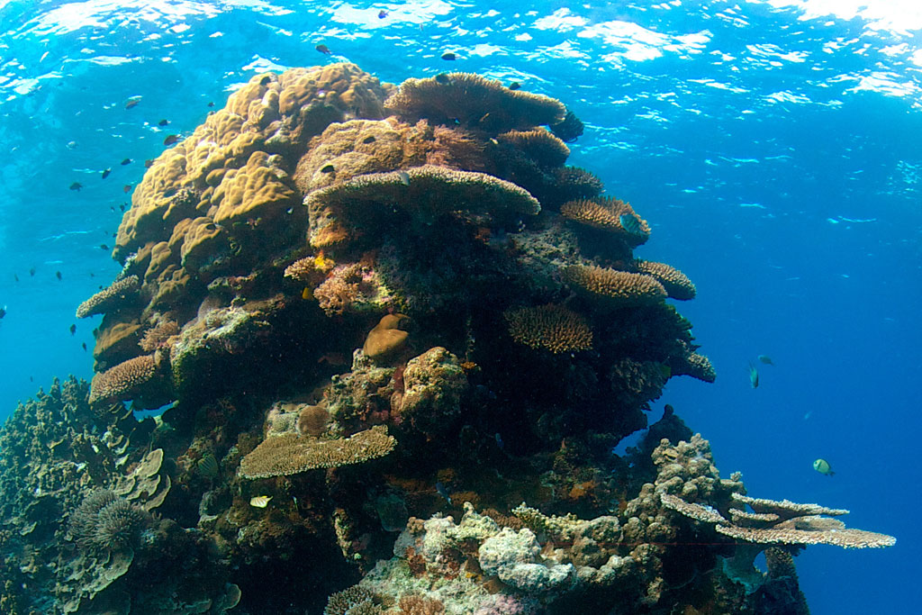
[[[509,335],[531,349],[552,353],[592,349],[592,329],[585,318],[561,305],[548,303],[538,307],[507,310]]]

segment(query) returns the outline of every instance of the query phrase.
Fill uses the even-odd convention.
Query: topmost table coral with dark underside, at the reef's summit
[[[555,124],[566,110],[560,101],[469,73],[443,78],[410,78],[384,101],[384,108],[402,118],[426,118],[438,124],[455,121],[488,132]]]

